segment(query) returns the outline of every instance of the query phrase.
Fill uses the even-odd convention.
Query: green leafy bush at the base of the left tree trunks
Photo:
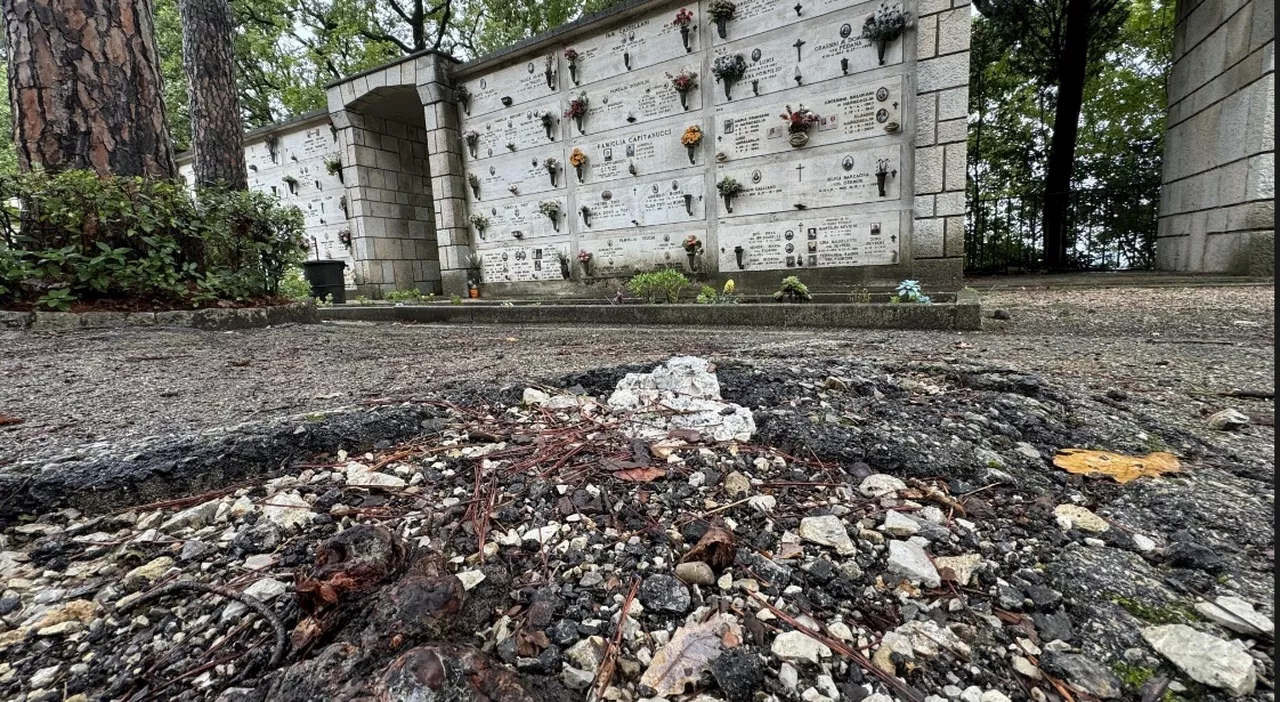
[[[0,304],[275,297],[306,256],[302,213],[260,192],[33,172],[0,177]]]

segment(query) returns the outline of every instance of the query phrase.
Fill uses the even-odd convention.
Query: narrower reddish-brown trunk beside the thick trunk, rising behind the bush
[[[179,0],[178,10],[196,184],[225,182],[234,190],[248,190],[230,5],[227,0]]]

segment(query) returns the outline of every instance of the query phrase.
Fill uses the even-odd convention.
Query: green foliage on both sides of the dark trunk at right
[[[969,264],[1036,261],[1066,0],[980,0],[969,88]],[[1068,250],[1151,265],[1164,154],[1171,0],[1093,1]],[[1088,216],[1082,216],[1088,215]],[[975,231],[974,231],[975,229]],[[1117,255],[1121,259],[1117,261]]]

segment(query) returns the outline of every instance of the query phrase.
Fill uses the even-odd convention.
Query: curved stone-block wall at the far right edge
[[[1178,0],[1156,263],[1275,273],[1275,4]]]

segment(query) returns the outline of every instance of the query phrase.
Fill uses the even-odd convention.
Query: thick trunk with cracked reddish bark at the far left
[[[22,170],[174,177],[151,0],[4,0]]]

